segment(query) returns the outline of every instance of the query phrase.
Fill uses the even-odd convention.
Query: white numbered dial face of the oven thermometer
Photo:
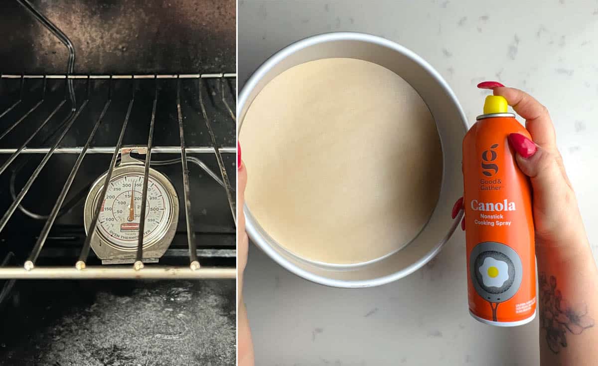
[[[172,211],[172,198],[164,185],[151,176],[148,179],[144,243],[159,239],[166,231]],[[143,173],[126,173],[112,178],[109,183],[101,203],[97,228],[105,239],[116,246],[137,246],[143,185]]]

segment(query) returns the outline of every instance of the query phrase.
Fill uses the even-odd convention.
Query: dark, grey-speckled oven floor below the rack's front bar
[[[0,364],[234,365],[235,282],[20,281]]]

